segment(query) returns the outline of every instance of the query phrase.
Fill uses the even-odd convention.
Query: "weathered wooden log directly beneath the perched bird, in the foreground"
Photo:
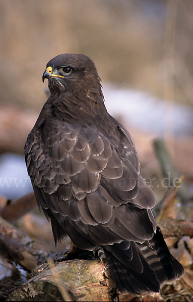
[[[53,269],[54,268],[54,269]],[[159,293],[121,294],[99,259],[43,264],[31,279],[14,290],[7,301],[160,301]]]

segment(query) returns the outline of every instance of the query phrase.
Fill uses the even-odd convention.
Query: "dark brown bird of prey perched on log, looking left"
[[[60,54],[44,79],[50,97],[27,137],[25,159],[55,243],[69,235],[80,249],[102,249],[121,292],[158,292],[183,268],[157,226],[134,141],[106,110],[95,64]]]

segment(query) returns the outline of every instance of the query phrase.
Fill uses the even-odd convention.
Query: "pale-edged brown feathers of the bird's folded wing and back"
[[[36,143],[26,147],[33,154],[26,156],[29,174],[42,192],[36,194],[38,204],[50,208],[57,219],[61,215],[61,221],[68,217],[79,227],[82,223],[92,244],[143,243],[152,238],[155,222],[146,208],[154,205],[154,195],[131,161],[100,133],[68,123],[56,123],[55,128],[47,123],[44,146],[39,145],[36,153],[35,137]],[[140,208],[146,212],[140,214]],[[71,236],[68,228],[67,233]]]

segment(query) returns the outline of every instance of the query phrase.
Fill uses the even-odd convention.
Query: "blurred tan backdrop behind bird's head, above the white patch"
[[[45,65],[68,52],[90,56],[103,83],[182,104],[192,101],[191,0],[0,4],[2,103],[39,110],[45,101]]]

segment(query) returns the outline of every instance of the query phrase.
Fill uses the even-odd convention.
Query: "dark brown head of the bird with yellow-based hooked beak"
[[[84,54],[59,54],[51,59],[43,73],[51,93],[86,92],[100,89],[100,78],[94,62]]]

